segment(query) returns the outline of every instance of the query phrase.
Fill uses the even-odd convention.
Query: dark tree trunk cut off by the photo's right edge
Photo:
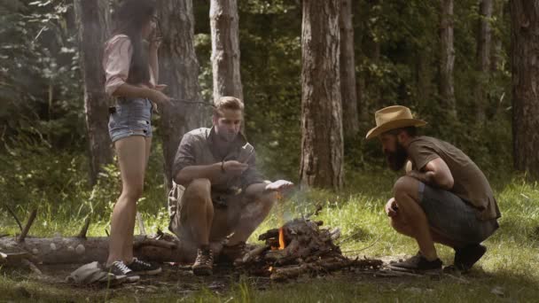
[[[514,167],[539,177],[539,5],[512,0],[512,133]]]

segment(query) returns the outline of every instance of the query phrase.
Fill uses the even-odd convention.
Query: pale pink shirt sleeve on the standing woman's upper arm
[[[129,64],[133,50],[127,35],[116,35],[105,44],[103,67],[105,68],[105,92],[113,96],[129,76]]]

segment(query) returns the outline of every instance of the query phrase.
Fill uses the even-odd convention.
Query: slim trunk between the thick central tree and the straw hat
[[[345,136],[355,136],[359,130],[357,96],[355,89],[354,27],[352,2],[340,0],[340,97],[342,120],[347,126]]]

